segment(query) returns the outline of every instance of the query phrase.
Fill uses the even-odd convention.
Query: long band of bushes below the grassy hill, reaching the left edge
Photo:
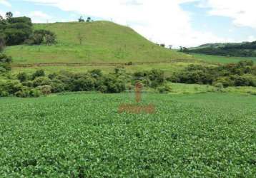
[[[99,91],[102,93],[121,93],[132,90],[137,81],[144,86],[164,88],[164,75],[160,70],[151,70],[129,74],[124,68],[116,68],[114,73],[104,75],[101,70],[91,70],[87,73],[51,73],[45,75],[44,70],[37,70],[29,75],[19,73],[16,78],[0,82],[0,96],[16,95],[18,97],[38,97],[49,93],[74,91]]]

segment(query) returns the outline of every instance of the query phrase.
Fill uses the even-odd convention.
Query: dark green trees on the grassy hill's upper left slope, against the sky
[[[0,16],[0,51],[5,45],[13,46],[25,42],[51,44],[56,42],[56,36],[50,31],[33,31],[29,17],[13,17],[11,12],[6,13],[6,19]]]

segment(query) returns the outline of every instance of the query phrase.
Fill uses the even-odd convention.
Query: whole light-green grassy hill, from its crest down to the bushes
[[[192,63],[229,63],[240,58],[189,55],[162,48],[148,41],[127,26],[109,21],[92,23],[41,23],[34,29],[46,29],[56,33],[58,43],[53,46],[9,46],[4,53],[12,56],[13,72],[33,72],[42,68],[46,71],[84,71],[100,68],[106,72],[117,66],[128,71],[158,68],[172,73]],[[82,43],[80,43],[82,39]],[[241,60],[244,58],[241,58]]]

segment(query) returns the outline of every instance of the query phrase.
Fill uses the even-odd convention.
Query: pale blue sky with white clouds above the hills
[[[129,26],[154,43],[175,48],[256,41],[255,0],[0,0],[0,14],[34,23],[80,16]]]

